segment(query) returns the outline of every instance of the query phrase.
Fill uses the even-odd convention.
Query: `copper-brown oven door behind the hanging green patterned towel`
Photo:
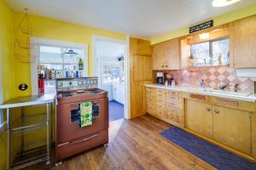
[[[93,123],[87,127],[79,127],[76,111],[79,104],[91,101],[94,105]],[[56,142],[63,144],[67,141],[78,139],[82,136],[96,133],[108,128],[108,98],[85,100],[77,103],[57,105],[56,115]]]

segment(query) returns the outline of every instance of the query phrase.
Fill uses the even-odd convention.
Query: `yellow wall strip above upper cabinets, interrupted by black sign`
[[[256,14],[256,3],[248,6],[246,8],[241,8],[236,11],[233,11],[228,14],[222,14],[217,17],[214,17],[213,20],[213,25],[214,26],[221,26],[226,23],[232,22],[234,20],[240,20],[242,18],[245,18],[247,16]],[[189,35],[189,27],[177,30],[177,31],[171,31],[165,35],[158,36],[158,37],[152,37],[150,39],[151,44],[159,43],[159,42],[165,42],[167,40],[170,40],[172,38],[176,37],[183,37]]]

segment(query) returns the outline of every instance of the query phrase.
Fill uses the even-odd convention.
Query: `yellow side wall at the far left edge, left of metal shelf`
[[[13,58],[13,14],[0,0],[0,62],[3,71],[3,101],[15,96]],[[0,169],[6,169],[6,133],[0,135]]]

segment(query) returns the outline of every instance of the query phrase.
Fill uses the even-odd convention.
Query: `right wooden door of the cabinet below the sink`
[[[251,154],[251,114],[214,105],[212,114],[213,138]]]

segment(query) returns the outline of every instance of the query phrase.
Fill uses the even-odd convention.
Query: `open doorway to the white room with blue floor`
[[[94,76],[99,79],[99,88],[108,91],[109,122],[125,116],[125,41],[108,37],[95,37]]]

